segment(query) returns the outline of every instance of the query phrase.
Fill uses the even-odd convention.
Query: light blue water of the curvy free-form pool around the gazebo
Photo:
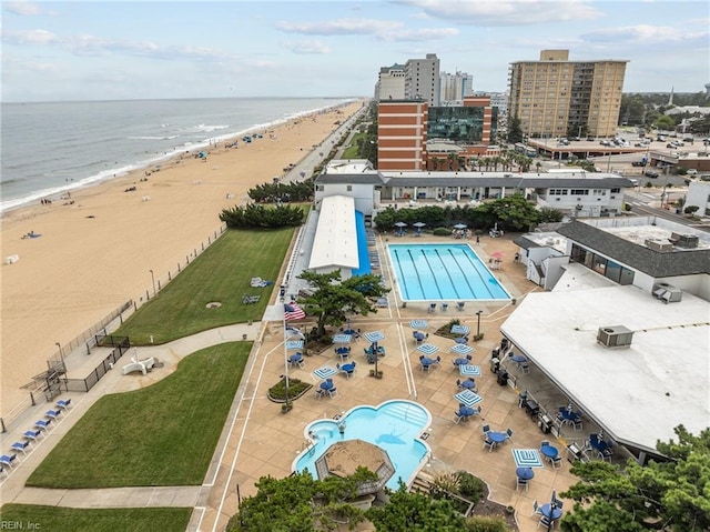
[[[338,422],[345,422],[345,434],[341,435]],[[313,434],[315,445],[301,453],[294,460],[293,471],[307,470],[317,479],[315,461],[328,448],[343,440],[363,440],[387,451],[395,466],[395,474],[386,483],[396,490],[399,479],[407,485],[424,464],[429,454],[429,445],[418,436],[432,423],[432,414],[412,401],[386,401],[378,406],[356,406],[341,420],[318,420],[308,424],[304,434]]]

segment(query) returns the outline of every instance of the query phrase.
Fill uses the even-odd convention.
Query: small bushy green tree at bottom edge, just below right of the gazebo
[[[377,532],[460,532],[464,518],[446,500],[433,500],[420,493],[408,493],[404,483],[389,495],[384,506],[373,506],[365,515]]]

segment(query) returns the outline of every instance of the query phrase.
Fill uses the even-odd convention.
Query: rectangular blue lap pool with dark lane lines
[[[468,244],[389,244],[402,301],[500,301],[510,294]]]

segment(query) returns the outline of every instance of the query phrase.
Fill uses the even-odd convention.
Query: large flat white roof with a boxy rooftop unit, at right
[[[501,331],[610,436],[655,451],[681,423],[694,434],[710,426],[709,317],[689,293],[661,303],[615,285],[530,293]],[[616,325],[633,331],[630,347],[597,343],[599,328]]]

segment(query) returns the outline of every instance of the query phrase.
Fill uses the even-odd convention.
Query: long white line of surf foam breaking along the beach
[[[11,199],[4,200],[0,202],[0,205],[6,202],[7,203],[17,202],[17,204],[10,204],[9,207],[0,207],[0,220],[4,219],[4,217],[11,211],[31,207],[33,202],[38,202],[40,200],[51,200],[51,201],[55,201],[58,199],[61,200],[63,199],[62,197],[65,195],[67,193],[71,195],[71,193],[74,193],[75,191],[83,190],[90,187],[101,185],[103,183],[113,181],[115,179],[128,177],[134,172],[143,171],[151,167],[170,164],[171,162],[174,162],[174,160],[181,159],[186,154],[192,154],[205,149],[212,149],[213,145],[217,145],[220,142],[230,143],[235,140],[241,140],[241,138],[246,134],[254,134],[257,132],[263,133],[266,130],[271,130],[284,124],[288,124],[290,122],[300,120],[302,118],[307,118],[313,114],[318,114],[322,112],[346,108],[355,101],[359,101],[359,100],[343,99],[342,102],[335,106],[326,106],[326,107],[315,108],[306,111],[291,113],[286,118],[280,118],[276,120],[272,120],[271,122],[252,124],[246,127],[245,129],[231,132],[227,134],[217,134],[212,138],[205,139],[203,141],[195,142],[189,147],[185,147],[185,145],[175,147],[171,151],[165,152],[163,154],[155,153],[154,157],[144,161],[126,162],[122,167],[104,170],[93,175],[81,178],[75,182],[72,181],[60,187],[48,187],[45,189],[29,192],[28,194],[20,198],[11,198]]]

